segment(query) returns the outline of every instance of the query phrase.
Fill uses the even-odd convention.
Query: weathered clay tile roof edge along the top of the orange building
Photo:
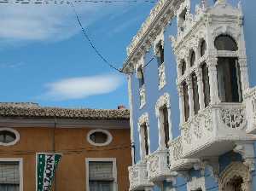
[[[0,117],[57,119],[129,119],[128,109],[40,107],[35,103],[0,103]]]

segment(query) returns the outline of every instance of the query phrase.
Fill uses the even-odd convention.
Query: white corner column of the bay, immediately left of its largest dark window
[[[218,58],[211,58],[207,60],[211,104],[217,104],[220,102],[218,97],[217,62]]]

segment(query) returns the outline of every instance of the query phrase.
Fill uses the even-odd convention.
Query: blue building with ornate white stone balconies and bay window
[[[127,48],[130,190],[256,190],[256,2],[160,0]]]

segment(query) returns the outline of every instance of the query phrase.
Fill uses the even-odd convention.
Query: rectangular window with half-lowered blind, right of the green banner
[[[89,168],[89,190],[90,191],[115,191],[113,161],[96,160],[88,161],[87,168]]]

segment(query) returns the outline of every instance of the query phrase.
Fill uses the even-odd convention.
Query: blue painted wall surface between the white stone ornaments
[[[237,6],[239,0],[229,0],[233,6]],[[191,2],[191,12],[195,13],[195,4],[200,3],[200,0],[192,0]],[[208,0],[209,4],[213,3],[213,0]],[[244,32],[247,48],[247,64],[248,64],[248,75],[250,86],[256,86],[256,38],[255,38],[255,28],[256,28],[256,1],[253,0],[243,0],[242,9],[244,14]],[[140,109],[140,98],[139,98],[139,84],[136,75],[133,74],[131,78],[132,84],[132,96],[133,96],[133,122],[134,122],[134,140],[136,148],[136,161],[140,160],[140,145],[139,145],[139,134],[137,130],[138,118],[143,113],[149,114],[149,133],[150,133],[150,151],[153,153],[159,146],[159,132],[157,126],[157,119],[154,112],[154,107],[156,101],[164,93],[169,93],[171,96],[171,115],[172,115],[172,135],[177,137],[180,135],[179,130],[179,107],[178,107],[178,96],[177,96],[177,63],[176,57],[172,52],[172,44],[169,39],[171,35],[176,36],[177,34],[177,20],[174,18],[169,26],[166,26],[165,31],[165,66],[166,66],[166,86],[162,89],[158,89],[158,65],[157,61],[154,59],[148,67],[144,69],[145,77],[145,87],[146,87],[146,105],[143,109]],[[149,49],[148,53],[145,55],[145,63],[151,60],[154,56],[153,48]],[[256,152],[256,147],[255,147]],[[230,165],[232,161],[242,161],[241,155],[237,153],[225,153],[219,157],[220,171],[224,171],[227,165]],[[255,161],[256,162],[256,161]],[[200,177],[198,171],[190,171],[191,177]],[[253,172],[253,188],[256,190],[256,173]],[[215,182],[214,178],[211,176],[210,171],[206,171],[206,187],[207,190],[215,191],[218,190],[218,183]],[[165,189],[177,188],[177,191],[185,191],[187,189],[186,181],[183,177],[177,177],[177,182],[175,184],[170,184],[164,182]],[[159,188],[155,187],[155,191]]]

